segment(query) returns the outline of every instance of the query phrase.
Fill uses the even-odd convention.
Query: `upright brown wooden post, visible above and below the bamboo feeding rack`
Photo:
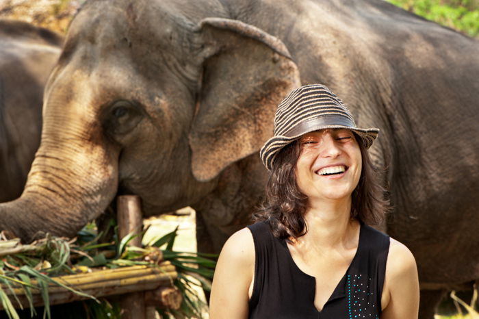
[[[122,195],[118,196],[116,202],[118,209],[118,240],[121,240],[129,233],[140,234],[143,228],[142,209],[140,196]],[[142,236],[133,238],[129,246],[142,246]],[[125,294],[120,298],[122,319],[146,319],[144,303],[144,292],[133,292]]]

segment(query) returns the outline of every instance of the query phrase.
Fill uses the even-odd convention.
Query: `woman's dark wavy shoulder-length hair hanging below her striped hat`
[[[370,155],[363,143],[358,144],[363,166],[359,183],[352,192],[351,218],[367,225],[378,225],[389,209],[389,201],[385,199],[385,188],[380,183],[380,175],[372,165]],[[269,223],[274,236],[288,241],[307,233],[305,213],[308,198],[296,183],[296,162],[300,153],[301,146],[296,140],[276,155],[266,184],[266,199],[253,214],[255,221]]]

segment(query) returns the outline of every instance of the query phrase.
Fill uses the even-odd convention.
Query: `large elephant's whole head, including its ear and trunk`
[[[24,240],[74,235],[118,192],[140,195],[146,215],[221,192],[225,169],[259,151],[277,103],[300,81],[277,38],[196,18],[214,10],[195,1],[86,3],[45,88],[27,185],[0,205],[0,229]]]

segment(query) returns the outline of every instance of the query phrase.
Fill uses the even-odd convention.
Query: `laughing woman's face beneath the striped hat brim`
[[[349,129],[323,129],[299,140],[296,182],[311,201],[347,199],[361,177],[361,150]]]

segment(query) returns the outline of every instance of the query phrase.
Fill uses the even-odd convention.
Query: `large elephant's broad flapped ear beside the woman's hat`
[[[253,25],[206,18],[200,35],[208,53],[189,141],[193,175],[209,181],[261,149],[300,77],[285,44]]]

